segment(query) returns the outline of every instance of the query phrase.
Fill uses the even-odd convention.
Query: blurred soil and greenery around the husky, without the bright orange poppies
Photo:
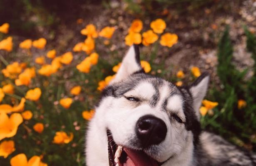
[[[80,31],[88,24],[93,24],[97,31],[107,26],[115,31],[110,42],[95,39],[94,51],[99,54],[99,61],[90,73],[77,71],[75,64],[87,54],[74,51],[70,66],[50,77],[38,75],[27,86],[15,85],[14,80],[1,74],[2,86],[10,83],[17,90],[13,95],[6,94],[2,103],[19,103],[27,90],[36,87],[40,87],[42,95],[32,104],[26,101],[24,110],[30,110],[34,116],[24,119],[17,134],[6,139],[14,140],[16,150],[6,159],[0,156],[0,165],[8,166],[12,157],[24,153],[27,159],[40,156],[50,166],[82,166],[89,120],[82,117],[82,112],[94,108],[100,94],[99,81],[114,74],[112,67],[121,62],[129,48],[124,39],[132,21],[142,20],[145,32],[159,18],[166,22],[164,32],[176,34],[178,42],[171,47],[159,42],[140,44],[142,59],[151,65],[150,73],[174,83],[182,81],[183,85],[196,78],[191,73],[194,66],[201,73],[211,73],[206,99],[218,105],[207,108],[201,118],[202,128],[256,151],[256,0],[1,0],[0,25],[9,23],[10,28],[8,34],[0,33],[0,41],[12,36],[14,43],[10,53],[0,50],[1,70],[15,61],[40,68],[34,62],[37,57],[51,49],[58,55],[72,51],[86,39]],[[25,39],[41,37],[47,40],[44,49],[27,52],[19,48]],[[179,71],[185,76],[177,75]],[[82,92],[72,96],[69,90],[75,85],[81,86]],[[68,112],[58,105],[65,97],[73,99]],[[37,122],[44,125],[42,134],[33,131]],[[72,132],[74,138],[68,144],[53,144],[58,131],[65,131],[67,137]]]

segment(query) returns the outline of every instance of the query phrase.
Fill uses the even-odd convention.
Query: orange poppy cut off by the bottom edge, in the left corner
[[[25,154],[17,154],[10,160],[11,166],[40,166],[41,164],[40,156],[32,156],[29,161],[27,161],[27,156]]]

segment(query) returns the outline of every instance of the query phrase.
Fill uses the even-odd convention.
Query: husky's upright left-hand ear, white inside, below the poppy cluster
[[[111,83],[122,81],[132,73],[139,71],[143,72],[139,59],[139,46],[134,44],[129,48],[127,54],[124,56],[122,64]]]

